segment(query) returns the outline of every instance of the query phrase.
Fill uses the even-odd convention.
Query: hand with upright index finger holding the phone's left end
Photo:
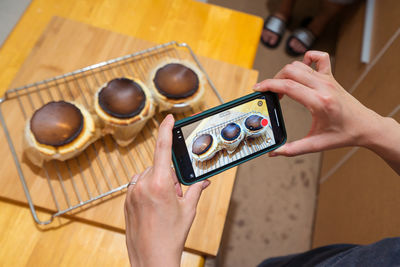
[[[126,245],[134,266],[180,266],[183,246],[197,203],[208,180],[191,185],[185,195],[171,168],[172,128],[161,123],[153,167],[135,175],[125,200]]]

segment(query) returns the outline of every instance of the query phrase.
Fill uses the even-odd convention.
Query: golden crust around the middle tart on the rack
[[[103,84],[94,96],[94,111],[99,118],[102,128],[102,134],[111,134],[115,141],[120,146],[129,145],[142,130],[146,122],[154,115],[155,105],[150,90],[139,79],[126,76],[124,78],[130,79],[139,84],[146,96],[146,103],[139,114],[131,118],[116,118],[106,113],[99,105],[99,93],[108,84]]]

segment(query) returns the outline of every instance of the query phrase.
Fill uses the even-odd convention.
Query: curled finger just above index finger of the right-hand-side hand
[[[310,88],[316,88],[316,81],[314,75],[312,75],[313,71],[310,68],[305,69],[304,66],[299,67],[298,63],[292,63],[286,65],[283,69],[281,69],[275,76],[275,79],[290,79],[301,83]]]

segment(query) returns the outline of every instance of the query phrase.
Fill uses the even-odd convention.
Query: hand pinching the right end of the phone
[[[316,69],[311,68],[315,63]],[[334,79],[329,55],[308,51],[303,62],[286,65],[274,79],[254,86],[256,91],[272,91],[303,104],[312,115],[307,136],[286,143],[270,156],[296,156],[343,146],[367,146],[371,125],[383,118],[366,108]]]

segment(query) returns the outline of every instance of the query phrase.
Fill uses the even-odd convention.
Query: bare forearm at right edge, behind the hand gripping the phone
[[[375,115],[362,137],[362,146],[382,159],[400,175],[400,124],[389,117]]]

